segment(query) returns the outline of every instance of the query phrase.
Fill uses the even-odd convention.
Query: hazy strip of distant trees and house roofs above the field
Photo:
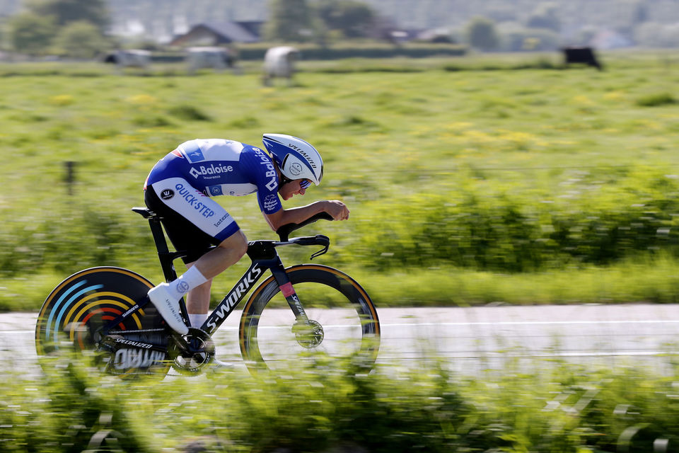
[[[93,52],[108,50],[110,45],[177,44],[182,35],[201,25],[221,25],[221,29],[205,30],[195,40],[201,44],[292,40],[328,45],[363,38],[469,43],[503,51],[552,50],[564,44],[599,49],[675,47],[678,16],[673,0],[4,0],[0,4],[4,50],[81,58],[93,57]],[[470,33],[470,28],[477,30]],[[216,36],[220,32],[224,33]],[[210,42],[211,38],[216,40]]]

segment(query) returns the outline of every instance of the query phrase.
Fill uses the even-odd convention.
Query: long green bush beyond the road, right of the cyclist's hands
[[[608,265],[639,253],[678,251],[679,182],[639,169],[617,185],[565,199],[474,188],[412,195],[366,210],[358,246],[376,268],[452,265],[503,272]],[[407,221],[401,216],[407,212]]]

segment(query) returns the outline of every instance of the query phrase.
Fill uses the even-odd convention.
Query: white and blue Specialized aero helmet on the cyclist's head
[[[291,180],[306,178],[315,185],[320,184],[323,179],[323,159],[311,144],[285,134],[264,134],[262,142],[283,176]]]

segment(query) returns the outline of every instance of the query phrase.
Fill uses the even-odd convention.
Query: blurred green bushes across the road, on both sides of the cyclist
[[[383,220],[356,222],[351,256],[378,270],[442,265],[516,273],[675,254],[678,194],[679,180],[653,172],[570,199],[545,194],[540,201],[521,191],[469,185],[454,195],[365,202],[360,212]],[[40,219],[18,217],[3,234],[0,271],[7,275],[124,265],[137,248],[147,252],[147,263],[152,259],[151,235],[141,219],[88,202],[52,205]]]

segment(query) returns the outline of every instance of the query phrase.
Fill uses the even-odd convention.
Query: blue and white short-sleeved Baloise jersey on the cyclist
[[[249,144],[224,139],[184,142],[153,167],[144,187],[177,176],[208,197],[256,192],[265,214],[282,208],[271,157]]]

